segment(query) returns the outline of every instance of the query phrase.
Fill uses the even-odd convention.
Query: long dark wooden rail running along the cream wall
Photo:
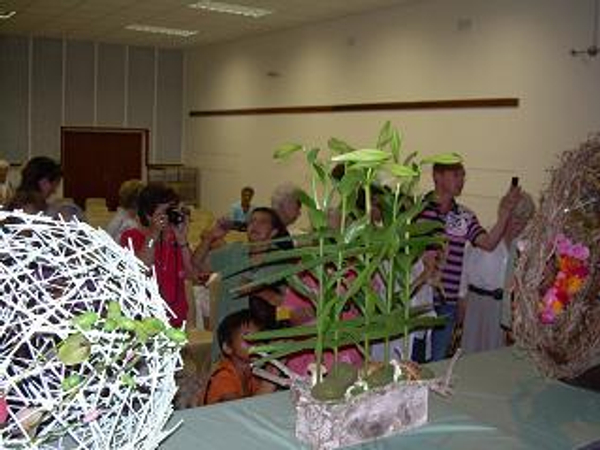
[[[518,98],[473,98],[456,100],[423,100],[413,102],[346,103],[339,105],[281,106],[274,108],[216,109],[205,111],[190,111],[190,117],[343,113],[418,109],[516,108],[518,106]]]

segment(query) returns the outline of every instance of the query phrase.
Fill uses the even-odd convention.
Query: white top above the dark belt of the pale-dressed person
[[[465,248],[459,296],[466,295],[470,284],[488,291],[503,289],[507,264],[508,249],[503,240],[491,252],[468,245]]]

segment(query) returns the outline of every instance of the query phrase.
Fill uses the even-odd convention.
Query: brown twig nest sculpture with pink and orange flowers
[[[514,331],[545,375],[572,378],[600,358],[600,135],[550,175],[524,233]]]

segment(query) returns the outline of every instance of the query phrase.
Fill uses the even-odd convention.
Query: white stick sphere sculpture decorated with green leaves
[[[156,448],[185,341],[167,324],[106,233],[0,211],[0,447]]]

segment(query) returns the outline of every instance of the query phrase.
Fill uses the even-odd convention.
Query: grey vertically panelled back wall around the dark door
[[[183,52],[0,35],[0,158],[61,157],[60,127],[150,130],[152,163],[180,163]]]

